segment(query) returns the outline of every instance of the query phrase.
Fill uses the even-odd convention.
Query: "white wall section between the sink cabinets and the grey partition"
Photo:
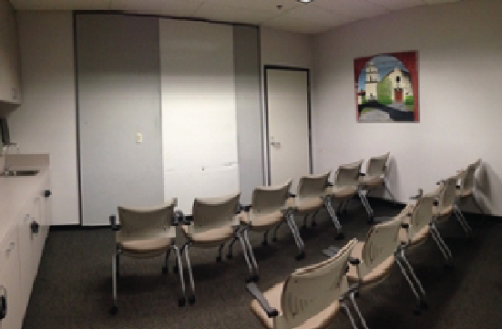
[[[8,117],[21,153],[49,153],[52,224],[78,223],[71,12],[18,12],[23,104]]]

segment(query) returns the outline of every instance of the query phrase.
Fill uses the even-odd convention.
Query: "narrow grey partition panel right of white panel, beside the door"
[[[251,203],[252,190],[264,184],[259,35],[258,27],[233,27],[239,186],[244,204]]]

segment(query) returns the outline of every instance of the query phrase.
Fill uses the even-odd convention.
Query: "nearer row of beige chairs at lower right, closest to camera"
[[[397,263],[415,294],[415,314],[426,309],[425,289],[406,259],[406,252],[432,236],[452,266],[452,254],[437,230],[437,224],[455,215],[466,231],[472,231],[458,208],[458,202],[474,198],[475,171],[480,160],[459,170],[456,175],[438,182],[436,190],[419,194],[403,211],[393,218],[376,218],[364,242],[351,240],[343,248],[334,246],[324,250],[328,260],[296,270],[282,282],[261,293],[256,283],[247,289],[254,296],[251,311],[261,323],[271,329],[326,328],[333,317],[343,311],[357,328],[351,314],[350,301],[364,327],[368,326],[360,312],[355,296],[384,281]],[[477,205],[478,206],[478,205]],[[478,206],[479,208],[479,206]],[[481,208],[479,210],[483,213]]]

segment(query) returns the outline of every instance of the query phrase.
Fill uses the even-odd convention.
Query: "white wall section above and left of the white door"
[[[264,70],[266,65],[276,65],[283,67],[302,67],[311,69],[311,79],[313,77],[313,38],[310,35],[277,30],[271,27],[260,28],[261,46],[261,116],[265,116],[265,91],[264,91]],[[263,132],[266,131],[265,120],[263,120]],[[265,134],[263,134],[263,145],[266,145]],[[312,152],[312,157],[313,157]],[[269,175],[267,149],[263,148],[263,171],[265,178]]]

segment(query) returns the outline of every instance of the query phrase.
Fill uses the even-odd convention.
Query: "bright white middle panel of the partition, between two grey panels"
[[[232,26],[159,19],[165,198],[239,190]]]

